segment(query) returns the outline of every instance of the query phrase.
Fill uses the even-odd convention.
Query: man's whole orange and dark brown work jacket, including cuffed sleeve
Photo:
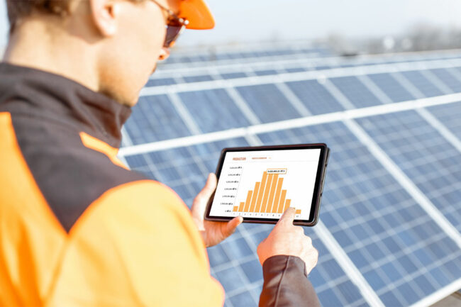
[[[0,63],[0,306],[223,306],[189,209],[116,154],[130,108]],[[318,306],[297,257],[260,306]]]

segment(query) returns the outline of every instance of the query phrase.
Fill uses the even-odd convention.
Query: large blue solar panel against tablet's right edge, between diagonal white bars
[[[409,306],[461,278],[461,250],[342,123],[259,135],[265,144],[326,142],[320,219],[385,306]]]

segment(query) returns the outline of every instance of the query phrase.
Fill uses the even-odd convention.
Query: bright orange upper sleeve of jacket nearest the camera
[[[162,184],[106,191],[69,235],[48,306],[223,306],[189,209]]]

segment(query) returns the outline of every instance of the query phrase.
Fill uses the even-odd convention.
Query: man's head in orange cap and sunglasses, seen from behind
[[[6,1],[6,61],[63,74],[128,105],[169,55],[165,26],[184,18],[187,28],[213,27],[203,0]]]

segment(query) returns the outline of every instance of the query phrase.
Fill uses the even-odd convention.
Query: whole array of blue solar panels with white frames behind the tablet
[[[121,156],[190,206],[223,147],[328,143],[320,223],[305,228],[322,305],[429,306],[461,288],[460,59],[312,47],[179,55],[133,108]],[[271,229],[243,224],[208,249],[226,306],[257,306],[255,252]]]

